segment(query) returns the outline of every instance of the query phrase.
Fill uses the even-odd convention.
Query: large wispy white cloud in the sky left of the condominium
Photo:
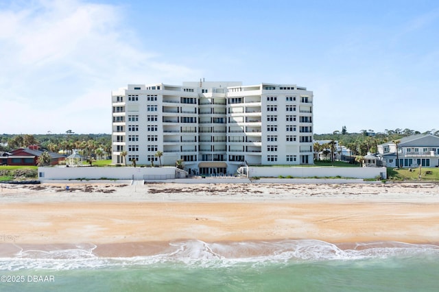
[[[199,75],[144,49],[123,26],[123,6],[22,4],[0,10],[0,101],[12,109],[2,114],[0,132],[110,132],[112,89]],[[80,119],[77,129],[73,118]],[[20,123],[8,122],[16,119]]]

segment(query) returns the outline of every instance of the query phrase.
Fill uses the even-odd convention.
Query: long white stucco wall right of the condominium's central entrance
[[[252,177],[273,177],[279,175],[293,178],[387,178],[385,167],[249,167],[250,178]]]

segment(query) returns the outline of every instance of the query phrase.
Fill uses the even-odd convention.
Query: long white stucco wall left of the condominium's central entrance
[[[183,175],[181,175],[183,177]],[[164,180],[176,178],[176,167],[38,167],[38,179],[49,180]]]

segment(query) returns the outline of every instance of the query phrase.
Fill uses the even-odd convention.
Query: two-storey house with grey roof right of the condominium
[[[390,141],[378,145],[377,157],[386,167],[438,167],[439,137],[418,134],[399,139],[398,145]]]

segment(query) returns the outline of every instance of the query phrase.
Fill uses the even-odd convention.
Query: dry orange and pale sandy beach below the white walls
[[[438,184],[65,186],[1,186],[3,247],[88,243],[114,254],[179,239],[439,242]]]

